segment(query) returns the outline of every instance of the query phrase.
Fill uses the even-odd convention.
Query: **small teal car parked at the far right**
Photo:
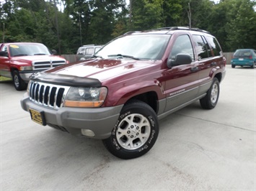
[[[255,68],[256,65],[256,50],[253,49],[239,49],[234,52],[234,56],[231,60],[231,67],[236,67],[237,65],[250,66]]]

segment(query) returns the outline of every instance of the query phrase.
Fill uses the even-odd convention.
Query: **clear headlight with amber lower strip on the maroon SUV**
[[[97,108],[102,106],[107,96],[107,88],[71,87],[63,103],[64,107]]]

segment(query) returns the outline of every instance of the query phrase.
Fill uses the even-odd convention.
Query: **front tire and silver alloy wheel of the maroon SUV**
[[[123,106],[112,134],[104,139],[107,150],[120,159],[134,159],[149,152],[159,134],[154,110],[142,101]]]

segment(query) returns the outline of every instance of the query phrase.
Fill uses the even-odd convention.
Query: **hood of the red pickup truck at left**
[[[40,62],[40,61],[48,61],[48,60],[65,60],[63,57],[59,57],[56,55],[34,55],[34,56],[20,56],[20,57],[12,57],[12,62]]]

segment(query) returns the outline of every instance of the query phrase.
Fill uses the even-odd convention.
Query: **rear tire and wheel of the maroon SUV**
[[[213,78],[213,83],[207,91],[206,96],[200,99],[201,107],[205,109],[215,108],[219,100],[219,92],[219,80],[217,78]]]

